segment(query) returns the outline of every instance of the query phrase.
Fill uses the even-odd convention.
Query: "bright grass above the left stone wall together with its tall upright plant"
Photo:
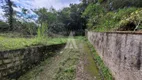
[[[51,38],[48,37],[47,24],[42,23],[38,27],[37,35],[23,35],[17,32],[8,32],[0,34],[0,51],[20,49],[38,45],[52,45],[66,43],[67,38]],[[26,38],[29,37],[29,38]]]

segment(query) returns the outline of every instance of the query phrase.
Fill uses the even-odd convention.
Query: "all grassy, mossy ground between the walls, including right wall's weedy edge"
[[[70,49],[68,45],[67,48],[60,52],[58,51],[58,54],[49,57],[40,65],[21,76],[18,80],[75,80],[77,74],[80,75],[78,77],[85,76],[89,77],[90,80],[94,78],[97,80],[113,80],[108,68],[97,55],[92,45],[86,42],[87,39],[84,37],[76,37],[75,41],[78,49]],[[94,55],[94,58],[92,55]],[[86,74],[89,76],[86,76]],[[88,78],[81,79],[85,80]]]

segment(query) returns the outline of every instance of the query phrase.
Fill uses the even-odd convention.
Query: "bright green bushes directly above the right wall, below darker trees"
[[[124,20],[125,17],[127,18],[132,16],[130,14],[132,12],[135,12],[137,9],[138,8],[131,7],[118,9],[117,11],[100,12],[100,14],[92,14],[91,17],[89,17],[88,19],[87,27],[88,29],[93,29],[95,31],[118,30],[121,27],[120,24],[122,24],[121,20]]]

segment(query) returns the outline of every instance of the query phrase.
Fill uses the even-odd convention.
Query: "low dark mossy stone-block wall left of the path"
[[[65,44],[38,46],[0,52],[0,80],[16,79],[40,61],[54,55]]]

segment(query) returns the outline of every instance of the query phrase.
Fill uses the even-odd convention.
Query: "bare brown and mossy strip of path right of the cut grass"
[[[81,52],[81,57],[76,70],[76,80],[101,80],[87,43],[82,42],[79,50]]]

